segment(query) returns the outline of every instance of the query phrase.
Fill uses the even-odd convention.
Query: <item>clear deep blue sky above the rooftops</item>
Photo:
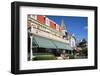
[[[74,34],[77,40],[88,37],[88,18],[78,16],[47,16],[57,24],[61,24],[61,20],[64,20],[67,31],[70,34]]]

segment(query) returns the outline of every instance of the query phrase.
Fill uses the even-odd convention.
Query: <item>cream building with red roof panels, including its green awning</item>
[[[33,51],[43,50],[73,50],[70,46],[70,40],[66,39],[67,29],[64,21],[61,26],[42,15],[28,15],[28,33],[30,41],[30,60],[33,57]],[[71,40],[72,41],[72,40]],[[35,50],[33,50],[35,49]],[[41,51],[40,50],[40,51]]]

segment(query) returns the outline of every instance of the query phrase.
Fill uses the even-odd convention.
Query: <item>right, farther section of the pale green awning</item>
[[[52,42],[57,46],[58,49],[73,50],[72,47],[67,43],[56,40],[52,40]]]

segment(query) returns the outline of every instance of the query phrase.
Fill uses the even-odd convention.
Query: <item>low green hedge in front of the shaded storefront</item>
[[[54,55],[37,55],[32,60],[56,60]]]

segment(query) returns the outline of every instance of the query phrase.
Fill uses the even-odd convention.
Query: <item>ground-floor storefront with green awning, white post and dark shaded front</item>
[[[54,54],[55,56],[58,56],[63,51],[73,50],[67,43],[48,39],[38,35],[32,35],[32,39],[29,41],[30,46],[32,46],[30,47],[31,50],[29,51],[29,54],[32,53],[30,55],[32,57],[36,54]]]

